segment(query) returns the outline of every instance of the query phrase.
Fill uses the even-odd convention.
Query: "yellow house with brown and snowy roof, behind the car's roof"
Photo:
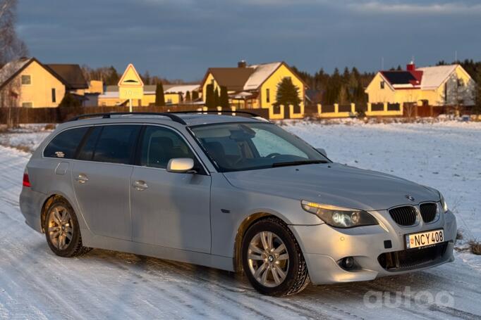
[[[300,108],[292,110],[291,117],[302,117],[307,86],[284,62],[247,65],[245,61],[240,61],[237,68],[209,68],[200,86],[204,101],[207,85],[212,84],[219,93],[221,87],[226,87],[231,106],[241,109],[266,108],[275,118],[276,115],[284,114],[284,110],[274,108],[274,104],[277,86],[286,77],[299,89],[301,101]]]

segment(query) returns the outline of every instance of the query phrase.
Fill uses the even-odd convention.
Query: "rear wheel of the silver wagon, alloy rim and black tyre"
[[[63,198],[54,200],[47,208],[45,236],[50,249],[61,257],[75,257],[90,251],[83,247],[75,212]]]

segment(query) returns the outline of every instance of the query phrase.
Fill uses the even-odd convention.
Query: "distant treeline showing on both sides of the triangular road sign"
[[[82,66],[83,76],[85,80],[100,80],[104,82],[107,86],[116,86],[118,84],[118,80],[122,77],[122,72],[118,72],[113,65],[110,67],[100,67],[100,68],[90,68],[88,65]],[[183,80],[181,79],[165,79],[162,77],[151,76],[150,72],[147,70],[142,75],[142,82],[145,85],[149,84],[184,84]]]

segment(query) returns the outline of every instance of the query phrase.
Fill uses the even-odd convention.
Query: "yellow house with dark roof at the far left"
[[[66,92],[83,96],[87,87],[78,65],[44,65],[36,58],[21,58],[0,70],[0,105],[54,108]]]

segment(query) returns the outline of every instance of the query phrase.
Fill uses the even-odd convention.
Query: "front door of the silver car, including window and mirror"
[[[140,141],[130,179],[133,241],[209,253],[210,176],[172,129],[147,126]],[[194,159],[197,174],[167,172],[171,158]]]

